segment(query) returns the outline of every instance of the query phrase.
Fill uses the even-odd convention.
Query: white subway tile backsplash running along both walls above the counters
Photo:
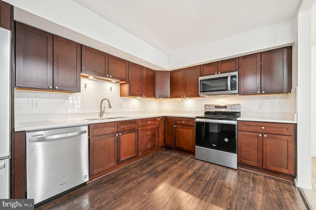
[[[86,87],[85,87],[86,84]],[[112,108],[103,102],[106,112],[179,112],[202,113],[204,104],[241,104],[243,116],[286,117],[296,113],[296,93],[258,96],[212,96],[193,99],[136,99],[119,97],[119,84],[81,77],[80,93],[14,91],[15,115],[99,112],[100,102],[108,98]]]

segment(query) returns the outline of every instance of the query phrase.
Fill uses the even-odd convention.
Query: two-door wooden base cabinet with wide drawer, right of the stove
[[[238,121],[238,163],[294,176],[294,124]]]

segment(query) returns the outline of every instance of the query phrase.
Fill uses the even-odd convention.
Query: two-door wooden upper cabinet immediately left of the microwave
[[[198,97],[200,66],[170,72],[170,98]]]

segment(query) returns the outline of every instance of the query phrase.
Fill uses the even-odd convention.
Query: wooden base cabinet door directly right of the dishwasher
[[[115,134],[90,138],[90,176],[104,172],[118,164],[118,138]]]

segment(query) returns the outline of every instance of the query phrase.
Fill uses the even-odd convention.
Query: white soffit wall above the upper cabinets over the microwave
[[[290,19],[169,55],[168,68],[177,69],[192,64],[238,57],[276,46],[291,45],[294,41],[295,20]]]

